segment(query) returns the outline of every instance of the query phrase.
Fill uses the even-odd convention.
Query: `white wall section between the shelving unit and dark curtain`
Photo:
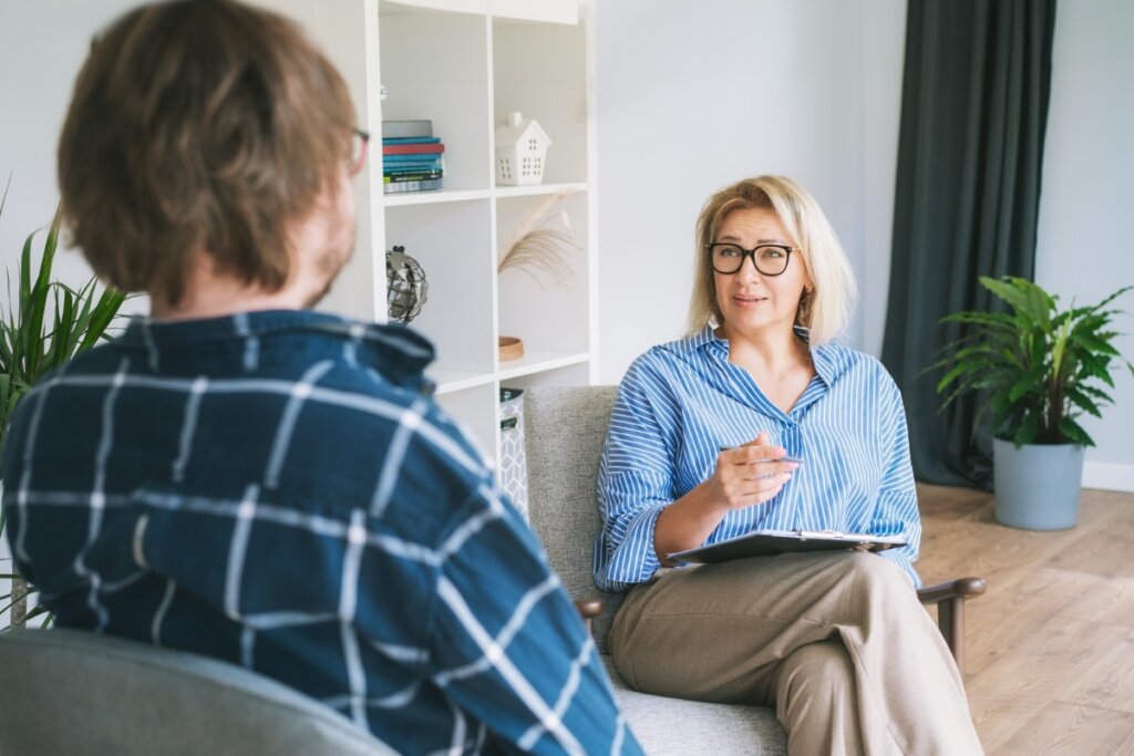
[[[693,227],[716,189],[785,173],[819,199],[878,351],[889,264],[904,0],[598,3],[601,379],[680,335]]]

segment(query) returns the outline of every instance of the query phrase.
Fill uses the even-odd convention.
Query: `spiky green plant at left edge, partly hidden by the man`
[[[2,210],[3,198],[0,198],[0,212]],[[16,274],[18,294],[14,297],[9,291],[7,308],[0,306],[0,452],[11,413],[28,389],[44,373],[105,338],[108,326],[126,299],[125,294],[113,289],[103,289],[100,294],[96,279],[77,290],[51,279],[60,220],[56,213],[43,243],[37,272],[32,270],[35,235],[27,237]],[[10,286],[9,279],[9,289]],[[0,494],[2,492],[3,479],[0,478]],[[0,498],[0,541],[5,538],[6,520]],[[11,560],[0,559],[0,617],[6,610],[8,612],[8,622],[0,623],[0,631],[20,627],[46,612],[43,606],[27,608],[28,596],[33,594],[35,588],[16,572]]]

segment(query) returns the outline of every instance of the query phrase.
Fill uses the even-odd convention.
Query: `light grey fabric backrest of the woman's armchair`
[[[617,396],[612,385],[534,388],[524,394],[532,527],[572,598],[602,598],[594,640],[603,653],[623,595],[594,585],[592,557],[602,526],[595,481]]]

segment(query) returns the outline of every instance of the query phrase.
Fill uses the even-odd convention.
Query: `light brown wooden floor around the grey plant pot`
[[[997,525],[991,494],[919,486],[926,585],[967,605],[965,685],[985,751],[1134,755],[1134,494],[1084,491],[1078,526]]]

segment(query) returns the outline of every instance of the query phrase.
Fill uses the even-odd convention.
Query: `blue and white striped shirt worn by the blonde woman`
[[[845,347],[813,347],[816,375],[785,414],[728,362],[728,348],[706,328],[650,349],[623,379],[599,468],[595,583],[623,591],[649,580],[661,511],[712,475],[721,447],[768,431],[803,464],[776,498],[730,511],[705,543],[758,529],[904,533],[908,545],[881,554],[921,585],[905,410],[886,368]]]

